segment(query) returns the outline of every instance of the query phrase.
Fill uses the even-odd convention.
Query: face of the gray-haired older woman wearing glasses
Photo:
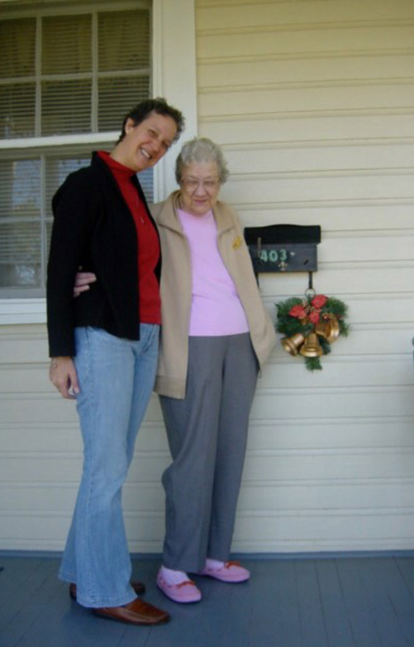
[[[190,162],[183,168],[179,186],[181,209],[193,215],[205,215],[213,209],[219,195],[216,162]]]

